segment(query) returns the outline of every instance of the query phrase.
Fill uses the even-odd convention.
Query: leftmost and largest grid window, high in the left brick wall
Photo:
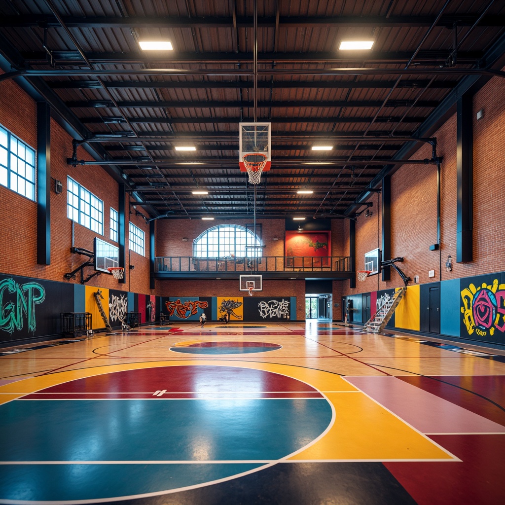
[[[0,184],[35,201],[35,149],[0,126]]]

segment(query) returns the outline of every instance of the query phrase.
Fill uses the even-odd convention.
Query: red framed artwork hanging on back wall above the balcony
[[[330,267],[330,231],[286,231],[288,268]]]

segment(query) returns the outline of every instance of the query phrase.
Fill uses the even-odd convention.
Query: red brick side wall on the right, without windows
[[[429,246],[437,241],[436,166],[404,165],[391,177],[391,256],[405,258],[398,266],[410,277],[419,276],[420,283],[468,277],[503,270],[505,265],[505,81],[493,78],[474,97],[473,139],[473,262],[456,263],[457,243],[457,165],[456,115],[453,115],[434,135],[441,164],[440,249]],[[484,109],[484,117],[476,114]],[[431,146],[423,145],[412,159],[431,158]],[[363,252],[381,246],[380,213],[373,218],[358,218],[356,224],[357,270],[363,267]],[[369,199],[370,200],[370,199]],[[349,225],[345,223],[344,240],[348,247]],[[374,240],[372,237],[375,238]],[[451,256],[452,271],[445,262]],[[435,271],[430,278],[428,272]],[[341,284],[344,295],[387,289],[403,285],[391,270],[391,280],[380,281],[380,276],[357,281],[350,289],[348,281]],[[334,287],[334,297],[337,291]],[[336,300],[335,300],[336,301]],[[335,314],[335,313],[334,313]]]

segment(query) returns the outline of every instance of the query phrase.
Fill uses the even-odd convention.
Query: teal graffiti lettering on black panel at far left
[[[13,300],[6,300],[7,293],[13,294]],[[23,315],[28,319],[28,329],[35,331],[35,305],[45,299],[45,290],[37,282],[19,285],[14,279],[0,282],[0,329],[13,333],[23,328]]]

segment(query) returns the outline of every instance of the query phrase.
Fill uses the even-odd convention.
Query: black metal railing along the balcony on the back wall
[[[162,272],[350,272],[350,256],[261,256],[247,258],[197,258],[159,256],[155,273]]]

